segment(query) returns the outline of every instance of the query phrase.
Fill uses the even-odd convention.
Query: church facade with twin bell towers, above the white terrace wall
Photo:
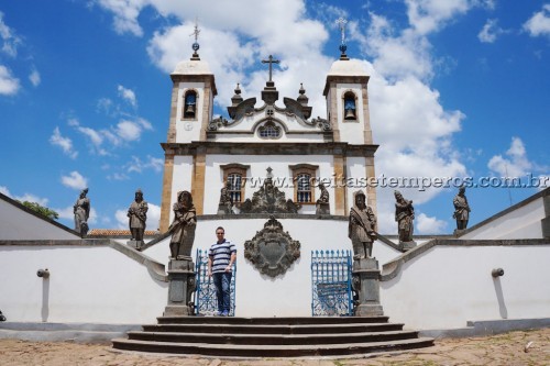
[[[176,66],[170,75],[167,141],[162,144],[161,232],[166,232],[182,190],[191,192],[199,215],[239,214],[257,212],[251,209],[254,192],[267,180],[284,193],[288,209],[274,212],[315,214],[322,184],[329,203],[324,213],[348,215],[359,188],[346,185],[346,177],[374,178],[377,145],[373,144],[369,75],[363,65],[343,53],[332,64],[323,90],[327,119],[322,119],[311,118],[312,108],[301,85],[297,84],[296,99],[279,98],[272,80],[272,65],[277,62],[272,56],[263,60],[270,66],[270,78],[261,100],[244,99],[237,85],[227,108],[229,119],[213,118],[217,87],[208,63],[195,53]],[[224,212],[222,188],[221,195],[231,201]],[[363,189],[367,204],[376,210],[374,188]]]

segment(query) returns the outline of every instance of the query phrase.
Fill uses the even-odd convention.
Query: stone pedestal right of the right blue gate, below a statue
[[[353,260],[353,289],[359,295],[359,304],[353,310],[355,317],[381,317],[384,310],[380,303],[380,269],[375,258]]]

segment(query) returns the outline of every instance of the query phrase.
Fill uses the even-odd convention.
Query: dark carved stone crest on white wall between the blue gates
[[[283,224],[271,217],[264,229],[244,243],[244,257],[252,262],[260,273],[270,277],[283,275],[300,257],[300,243],[294,241]]]

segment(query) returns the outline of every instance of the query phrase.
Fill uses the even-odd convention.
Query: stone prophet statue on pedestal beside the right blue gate
[[[353,259],[371,258],[373,242],[376,240],[376,217],[366,206],[366,196],[362,191],[353,193],[355,204],[350,210],[348,236],[353,245]]]

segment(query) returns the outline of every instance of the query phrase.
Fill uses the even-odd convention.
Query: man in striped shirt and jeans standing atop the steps
[[[213,276],[218,315],[228,317],[231,309],[231,268],[237,259],[237,247],[224,239],[226,230],[216,229],[218,241],[208,252],[208,276]]]

